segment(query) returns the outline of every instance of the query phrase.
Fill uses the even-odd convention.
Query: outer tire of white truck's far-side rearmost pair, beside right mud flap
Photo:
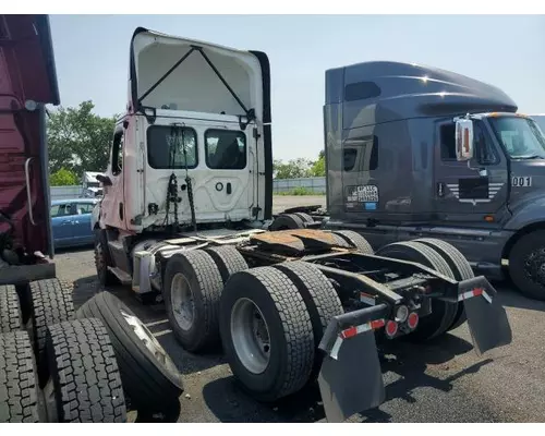
[[[460,251],[448,242],[433,239],[433,238],[422,238],[415,240],[415,242],[422,242],[431,247],[433,247],[441,257],[447,262],[448,266],[455,275],[455,279],[458,281],[468,280],[475,277],[473,268],[465,258],[465,256],[460,253]],[[458,308],[456,311],[456,317],[452,325],[448,328],[448,331],[460,327],[467,320],[465,308],[463,302],[458,303]]]

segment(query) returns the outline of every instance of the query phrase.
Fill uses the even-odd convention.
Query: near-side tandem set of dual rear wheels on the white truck
[[[319,341],[329,320],[343,313],[336,290],[313,265],[249,269],[234,247],[173,255],[164,283],[167,314],[182,347],[196,352],[221,341],[233,375],[262,401],[316,380]]]

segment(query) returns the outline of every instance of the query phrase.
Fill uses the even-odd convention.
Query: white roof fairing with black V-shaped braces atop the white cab
[[[258,121],[270,122],[269,63],[263,52],[138,27],[131,41],[129,81],[130,111],[247,116],[253,110]]]

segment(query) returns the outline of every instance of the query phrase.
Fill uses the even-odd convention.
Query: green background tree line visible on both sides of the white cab
[[[50,184],[53,186],[81,183],[84,171],[104,171],[108,166],[110,144],[117,114],[100,117],[93,112],[92,100],[77,107],[58,107],[47,119]],[[298,179],[325,175],[324,152],[316,160],[299,158],[274,160],[276,179]]]

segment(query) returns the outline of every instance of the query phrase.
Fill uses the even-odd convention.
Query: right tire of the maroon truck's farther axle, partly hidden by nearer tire
[[[38,364],[40,387],[49,378],[46,359],[47,327],[74,318],[72,289],[63,287],[59,279],[31,281],[32,339]]]

